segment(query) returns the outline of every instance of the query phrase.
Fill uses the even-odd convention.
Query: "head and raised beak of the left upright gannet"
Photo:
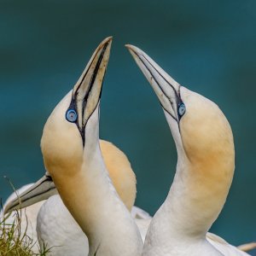
[[[73,176],[75,170],[79,172],[83,164],[85,132],[90,136],[96,134],[98,118],[92,116],[99,111],[111,43],[112,38],[106,38],[97,47],[73,90],[55,107],[44,125],[41,139],[44,166],[53,178],[58,172],[65,176]]]

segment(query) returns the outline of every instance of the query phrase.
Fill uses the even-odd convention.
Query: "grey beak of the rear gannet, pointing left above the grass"
[[[48,173],[41,177],[38,182],[34,183],[29,189],[26,189],[23,193],[18,195],[14,200],[4,207],[3,213],[12,212],[14,210],[29,207],[38,201],[43,201],[49,198],[51,195],[56,195],[57,189],[55,183]]]

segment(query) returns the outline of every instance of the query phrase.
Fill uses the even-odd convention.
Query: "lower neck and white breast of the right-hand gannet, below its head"
[[[219,186],[209,185],[207,177],[204,180],[190,169],[188,160],[178,160],[166,201],[148,228],[144,256],[222,255],[206,240],[206,234],[224,205],[230,178]]]

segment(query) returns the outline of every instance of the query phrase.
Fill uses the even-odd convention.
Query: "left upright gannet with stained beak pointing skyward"
[[[143,241],[113,187],[99,146],[99,105],[112,38],[90,58],[44,125],[44,166],[89,241],[88,255],[141,255]],[[47,174],[48,176],[48,174]]]

